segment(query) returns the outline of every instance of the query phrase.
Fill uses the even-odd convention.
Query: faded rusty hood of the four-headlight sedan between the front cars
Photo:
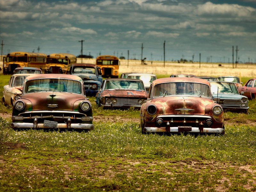
[[[108,89],[104,92],[105,96],[111,97],[148,97],[148,93],[146,91],[135,89]]]

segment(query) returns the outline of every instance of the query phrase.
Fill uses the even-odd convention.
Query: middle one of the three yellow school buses
[[[68,65],[76,63],[76,56],[69,53],[52,53],[47,55],[44,73],[66,74]]]

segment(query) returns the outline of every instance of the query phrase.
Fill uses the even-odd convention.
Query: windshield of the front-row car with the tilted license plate
[[[82,85],[79,81],[67,79],[35,79],[27,81],[24,93],[42,91],[71,92],[82,94]]]

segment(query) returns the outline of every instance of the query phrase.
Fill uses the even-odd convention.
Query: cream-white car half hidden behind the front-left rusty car
[[[4,86],[2,100],[4,105],[13,105],[14,102],[21,96],[24,80],[32,73],[14,74],[11,76],[8,85]]]

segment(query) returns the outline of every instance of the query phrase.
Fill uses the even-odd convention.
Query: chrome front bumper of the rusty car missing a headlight
[[[179,127],[167,127],[168,131],[166,131],[166,127],[144,127],[144,133],[181,133],[179,131]],[[182,132],[182,133],[207,133],[207,134],[225,134],[224,128],[203,128],[202,131],[199,130],[198,127],[191,127],[191,131]]]

